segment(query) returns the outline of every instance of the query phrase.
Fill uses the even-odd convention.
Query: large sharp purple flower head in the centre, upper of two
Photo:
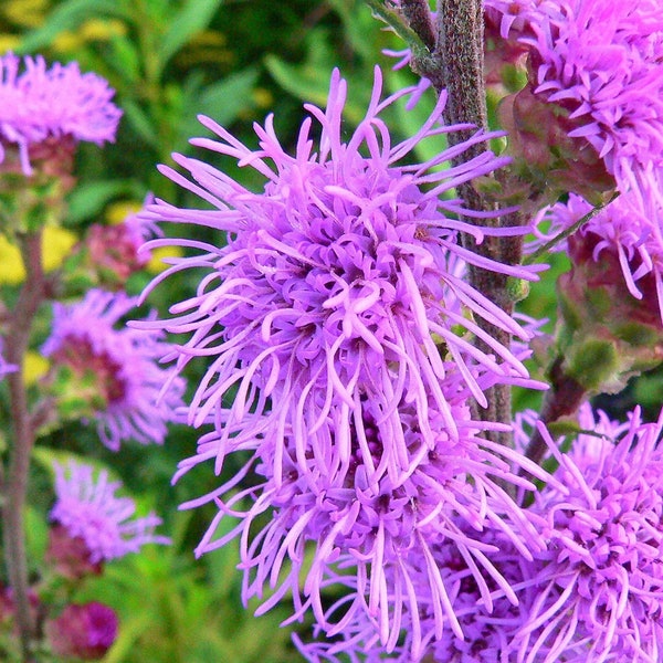
[[[194,425],[214,423],[219,436],[208,449],[219,466],[228,451],[264,445],[278,483],[290,462],[287,438],[295,440],[291,453],[299,471],[311,472],[313,454],[320,467],[343,478],[351,463],[352,428],[362,427],[362,411],[370,402],[379,411],[379,425],[390,431],[383,435],[385,460],[375,465],[371,481],[387,471],[396,477],[408,471],[401,402],[415,403],[418,425],[429,445],[434,445],[435,436],[430,407],[440,413],[450,435],[459,436],[440,387],[446,375],[443,357],[453,360],[467,393],[484,404],[478,376],[488,371],[503,380],[527,378],[513,352],[464,312],[520,337],[526,333],[450,267],[460,257],[496,272],[535,277],[527,270],[464,250],[460,231],[477,239],[493,231],[456,220],[460,213],[486,214],[444,199],[461,182],[492,172],[505,160],[487,151],[461,166],[436,168],[488,139],[478,131],[430,161],[401,164],[420,141],[455,129],[439,124],[442,95],[415,136],[392,144],[380,113],[408,93],[380,101],[381,74],[376,70],[366,117],[346,135],[341,128],[346,82],[335,72],[327,109],[305,106],[309,117],[294,156],[278,143],[271,116],[264,127],[255,126],[256,150],[201,118],[219,139],[192,143],[256,170],[266,180],[259,192],[196,159],[176,157],[197,183],[162,168],[213,209],[177,209],[159,201],[148,208],[149,219],[217,230],[219,244],[228,236],[225,245],[198,240],[148,244],[176,243],[198,253],[175,259],[152,287],[183,270],[207,271],[196,295],[171,307],[176,317],[154,326],[190,334],[190,340],[170,355],[180,369],[193,357],[209,362],[189,420]],[[474,348],[470,335],[483,338],[491,354]],[[333,459],[327,455],[332,438]],[[370,466],[373,461],[366,446],[361,453]]]

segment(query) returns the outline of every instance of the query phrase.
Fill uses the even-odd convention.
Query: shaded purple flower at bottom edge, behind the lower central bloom
[[[466,524],[460,524],[460,532],[477,537],[476,532],[470,534],[467,529]],[[508,598],[487,575],[480,586],[459,552],[456,543],[451,538],[440,541],[433,548],[433,560],[440,578],[450,588],[449,600],[463,636],[453,629],[445,628],[441,636],[435,638],[435,614],[430,592],[414,583],[412,590],[417,592],[419,612],[414,619],[408,612],[403,614],[404,628],[393,651],[386,652],[366,613],[347,624],[337,639],[304,642],[296,636],[298,650],[314,663],[341,663],[348,660],[354,663],[378,663],[385,660],[400,663],[514,662],[517,654],[516,634],[527,623],[527,606],[534,602],[537,593],[536,588],[529,587],[526,581],[532,572],[533,561],[524,557],[502,532],[490,525],[482,529],[481,543],[485,559],[494,565],[499,581],[517,589],[518,600]],[[486,606],[486,596],[490,596],[490,606]],[[418,636],[422,643],[413,650],[413,641]]]

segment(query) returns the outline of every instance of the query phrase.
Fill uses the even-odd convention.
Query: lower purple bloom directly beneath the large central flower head
[[[453,379],[441,387],[456,401],[452,392],[459,386]],[[408,660],[418,660],[446,629],[463,638],[451,598],[457,582],[449,580],[435,561],[442,546],[455,551],[456,569],[474,578],[486,610],[492,610],[486,578],[507,601],[516,602],[508,581],[486,557],[486,550],[494,547],[480,533],[485,527],[498,528],[514,550],[532,559],[532,551],[540,549],[543,541],[502,484],[534,488],[513,471],[514,464],[539,478],[546,474],[507,448],[478,438],[486,424],[470,420],[462,398],[453,404],[457,441],[445,432],[443,418],[429,408],[430,425],[436,431],[432,449],[419,430],[412,404],[399,410],[407,431],[402,445],[408,465],[400,475],[375,478],[380,476],[376,467],[388,462],[385,450],[390,443],[385,435],[389,431],[378,425],[379,409],[366,402],[364,419],[349,441],[349,469],[341,478],[329,470],[335,463],[334,440],[326,449],[328,465],[312,457],[308,473],[297,467],[296,442],[288,440],[284,457],[292,460],[282,481],[275,480],[274,463],[259,450],[262,457],[250,460],[224,485],[182,508],[209,502],[219,507],[197,554],[240,537],[243,598],[263,599],[260,612],[290,593],[295,617],[311,608],[325,638],[347,636],[359,629],[365,644],[375,642],[392,652],[407,631]],[[203,456],[208,444],[215,446],[213,434],[210,438],[201,440]],[[250,487],[238,491],[242,481]],[[246,499],[250,503],[244,507]],[[229,517],[240,523],[219,534],[219,524]],[[267,586],[272,591],[265,598]],[[343,599],[328,607],[327,591],[341,591]]]

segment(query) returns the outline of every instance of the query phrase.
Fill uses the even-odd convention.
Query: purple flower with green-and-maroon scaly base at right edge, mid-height
[[[644,219],[621,194],[571,234],[571,270],[559,277],[556,351],[559,369],[588,392],[617,392],[661,362],[663,282],[660,223]],[[663,209],[663,208],[662,208]],[[570,196],[541,213],[551,221],[534,245],[580,221],[591,207]],[[649,227],[649,228],[648,228]],[[656,307],[653,302],[659,301]],[[642,301],[650,302],[643,306]]]

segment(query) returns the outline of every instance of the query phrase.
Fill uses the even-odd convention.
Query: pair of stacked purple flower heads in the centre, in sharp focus
[[[438,168],[491,137],[477,131],[430,161],[403,164],[420,141],[467,128],[439,124],[442,95],[414,137],[392,144],[380,113],[411,92],[380,101],[376,70],[366,118],[344,140],[346,83],[335,72],[327,108],[306,106],[294,156],[278,143],[271,117],[255,127],[256,150],[202,118],[219,139],[194,145],[250,165],[266,185],[252,192],[181,156],[176,160],[193,181],[162,168],[212,209],[158,201],[146,218],[199,225],[227,243],[175,241],[196,255],[175,259],[154,285],[183,270],[203,270],[202,281],[194,296],[171,306],[171,319],[143,326],[190,335],[169,356],[180,370],[196,357],[209,361],[189,421],[213,430],[177,477],[206,461],[220,472],[230,454],[251,452],[232,478],[183,505],[219,508],[198,554],[240,537],[244,599],[262,599],[261,611],[290,593],[294,617],[311,609],[327,638],[368,623],[365,644],[387,651],[411,630],[408,651],[418,659],[449,628],[462,638],[450,599],[455,586],[435,561],[439,547],[456,549],[485,601],[484,576],[515,601],[477,533],[501,529],[530,557],[541,540],[503,483],[533,490],[517,467],[539,478],[545,473],[483,439],[499,427],[473,421],[469,408],[470,399],[485,404],[484,390],[495,382],[536,385],[519,352],[475,319],[522,339],[529,334],[459,276],[469,263],[536,277],[459,241],[460,232],[477,241],[524,232],[483,228],[481,219],[496,212],[475,212],[452,197],[505,160],[485,151]],[[474,347],[474,337],[487,349]],[[238,490],[243,481],[250,487]],[[239,523],[222,534],[219,523],[228,517]],[[343,591],[332,607],[323,597],[330,587]]]

